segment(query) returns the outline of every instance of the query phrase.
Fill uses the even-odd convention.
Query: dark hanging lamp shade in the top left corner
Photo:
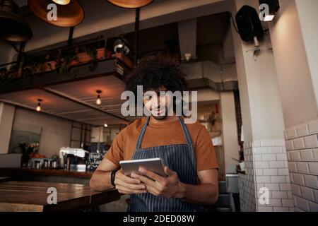
[[[0,38],[11,42],[26,42],[33,37],[28,23],[18,16],[18,5],[2,0],[0,8]]]

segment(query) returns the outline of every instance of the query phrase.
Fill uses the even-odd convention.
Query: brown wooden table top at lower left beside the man
[[[57,204],[49,205],[47,189],[57,189]],[[1,211],[76,211],[119,200],[117,190],[93,191],[83,184],[49,182],[0,182]]]

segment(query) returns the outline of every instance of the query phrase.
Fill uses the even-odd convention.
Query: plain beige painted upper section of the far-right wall
[[[307,37],[307,34],[302,33],[295,0],[280,2],[281,10],[269,25],[285,128],[289,129],[317,119],[318,109],[303,39],[303,35]],[[307,1],[302,1],[302,4],[307,4]],[[310,11],[308,14],[310,15]],[[312,20],[310,25],[312,30],[317,30],[316,21]],[[312,47],[314,50],[314,45]],[[317,58],[315,64],[317,65]]]

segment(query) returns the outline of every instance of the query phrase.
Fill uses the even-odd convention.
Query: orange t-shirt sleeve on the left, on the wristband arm
[[[124,133],[126,129],[120,131],[112,141],[110,150],[107,151],[105,157],[115,165],[119,166],[119,161],[124,160]]]

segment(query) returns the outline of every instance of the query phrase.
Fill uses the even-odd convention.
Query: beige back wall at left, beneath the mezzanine
[[[35,126],[42,127],[39,152],[46,157],[58,155],[61,147],[69,146],[71,136],[71,121],[69,120],[17,107],[13,129],[19,128],[20,124],[27,128],[29,125],[30,129]]]

